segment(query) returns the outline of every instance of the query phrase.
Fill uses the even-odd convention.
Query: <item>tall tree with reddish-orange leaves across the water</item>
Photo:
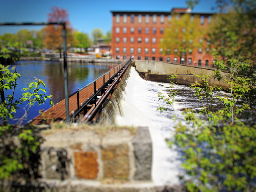
[[[68,10],[61,9],[59,7],[53,6],[51,12],[47,14],[48,22],[66,22],[66,36],[67,36],[67,45],[73,42],[73,28],[71,28],[68,20]],[[48,25],[44,28],[45,39],[44,46],[48,49],[58,49],[60,51],[61,58],[61,49],[63,48],[63,39],[62,39],[62,25]]]

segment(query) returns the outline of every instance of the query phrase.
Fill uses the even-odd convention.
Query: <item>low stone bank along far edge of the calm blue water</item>
[[[63,62],[63,58],[20,57],[20,61],[60,61],[60,62]],[[80,63],[121,63],[123,60],[67,58],[67,61],[68,62],[80,62]]]

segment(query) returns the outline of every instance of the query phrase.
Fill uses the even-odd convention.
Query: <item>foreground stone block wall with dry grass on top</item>
[[[100,136],[92,131],[63,130],[43,136],[42,179],[150,181],[152,148],[147,127]]]

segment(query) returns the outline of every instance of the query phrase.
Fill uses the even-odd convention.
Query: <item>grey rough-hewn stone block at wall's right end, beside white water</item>
[[[148,127],[138,127],[132,144],[136,166],[134,180],[151,180],[152,143]]]

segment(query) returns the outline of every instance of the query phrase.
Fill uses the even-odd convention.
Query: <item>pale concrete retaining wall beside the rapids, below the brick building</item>
[[[181,64],[167,63],[163,61],[152,61],[152,60],[134,60],[133,66],[140,73],[141,77],[149,81],[158,81],[170,83],[168,76],[171,74],[177,74],[177,84],[190,85],[195,83],[196,80],[200,82],[200,78],[196,75],[212,75],[214,69],[198,68]],[[221,75],[227,76],[227,74],[221,72]],[[228,89],[229,85],[224,81],[214,79],[210,76],[209,85],[219,85],[223,89]]]

